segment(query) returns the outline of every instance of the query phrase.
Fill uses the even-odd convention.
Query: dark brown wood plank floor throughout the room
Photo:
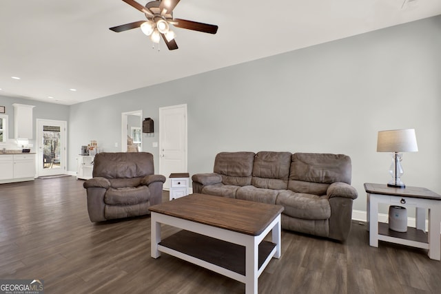
[[[244,293],[170,255],[150,258],[149,216],[93,224],[82,185],[0,185],[0,279],[42,279],[45,293]],[[427,251],[368,239],[358,222],[345,244],[283,231],[282,257],[260,275],[259,293],[440,293],[441,262]]]

